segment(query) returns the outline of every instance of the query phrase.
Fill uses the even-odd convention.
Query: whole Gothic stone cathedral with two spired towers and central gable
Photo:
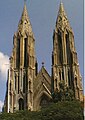
[[[74,45],[74,34],[62,2],[53,32],[51,75],[44,67],[44,63],[38,71],[35,42],[25,3],[17,31],[13,36],[3,107],[5,112],[40,110],[43,106],[49,105],[52,93],[60,89],[59,83],[62,81],[74,91],[76,99],[83,100],[82,77]]]

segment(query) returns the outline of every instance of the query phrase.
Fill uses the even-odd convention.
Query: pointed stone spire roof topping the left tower
[[[31,22],[28,16],[26,3],[24,3],[23,12],[22,12],[19,24],[18,24],[18,32],[20,32],[21,34],[26,33],[26,34],[33,35],[32,26],[31,26]]]

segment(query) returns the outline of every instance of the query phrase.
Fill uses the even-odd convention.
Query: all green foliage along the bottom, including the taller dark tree
[[[83,103],[74,99],[73,90],[67,88],[63,82],[60,90],[52,94],[53,103],[38,112],[17,111],[16,113],[2,113],[0,120],[83,120]]]

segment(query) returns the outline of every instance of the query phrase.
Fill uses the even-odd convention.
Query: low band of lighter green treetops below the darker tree
[[[79,101],[51,103],[39,112],[18,111],[2,113],[0,120],[83,120],[83,107]]]

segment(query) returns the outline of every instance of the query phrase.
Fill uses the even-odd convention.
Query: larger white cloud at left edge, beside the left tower
[[[0,52],[0,75],[2,79],[7,78],[8,68],[9,68],[9,56]]]

